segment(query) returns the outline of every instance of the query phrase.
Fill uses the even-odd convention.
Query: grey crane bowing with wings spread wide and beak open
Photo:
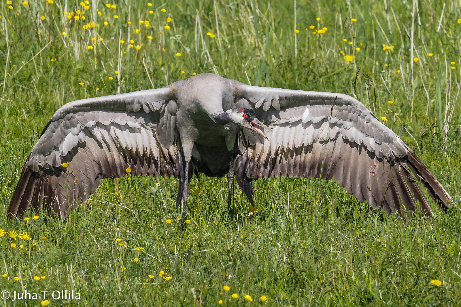
[[[270,130],[262,133],[264,123]],[[235,172],[252,204],[252,178],[278,176],[335,178],[386,213],[420,203],[431,214],[416,177],[443,210],[452,203],[414,152],[356,99],[201,74],[65,104],[27,159],[8,215],[44,203],[64,218],[101,179],[122,177],[128,167],[135,175],[179,176],[184,208],[189,191],[182,187],[194,169],[208,176],[231,170],[230,188]]]

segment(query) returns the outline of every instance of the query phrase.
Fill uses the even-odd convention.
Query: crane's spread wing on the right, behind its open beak
[[[268,140],[242,131],[234,169],[251,177],[334,178],[346,191],[391,213],[421,204],[432,214],[415,177],[446,211],[452,199],[396,133],[355,98],[337,93],[240,85],[236,106],[254,110]],[[247,193],[248,195],[248,193]]]

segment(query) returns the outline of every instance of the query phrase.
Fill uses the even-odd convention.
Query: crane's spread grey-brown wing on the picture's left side
[[[8,217],[44,201],[64,218],[103,178],[177,176],[177,103],[170,88],[77,100],[48,122],[25,162]]]

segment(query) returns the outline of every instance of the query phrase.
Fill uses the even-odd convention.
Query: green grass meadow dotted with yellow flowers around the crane
[[[238,188],[229,217],[227,180],[193,177],[183,236],[168,178],[126,176],[120,196],[104,180],[64,221],[6,219],[24,161],[59,106],[204,72],[356,97],[458,205],[458,2],[10,2],[0,8],[0,228],[24,239],[0,234],[0,291],[39,296],[0,305],[461,305],[459,209],[404,224],[334,181],[255,181],[258,212],[247,220]],[[80,300],[55,300],[54,290]]]

